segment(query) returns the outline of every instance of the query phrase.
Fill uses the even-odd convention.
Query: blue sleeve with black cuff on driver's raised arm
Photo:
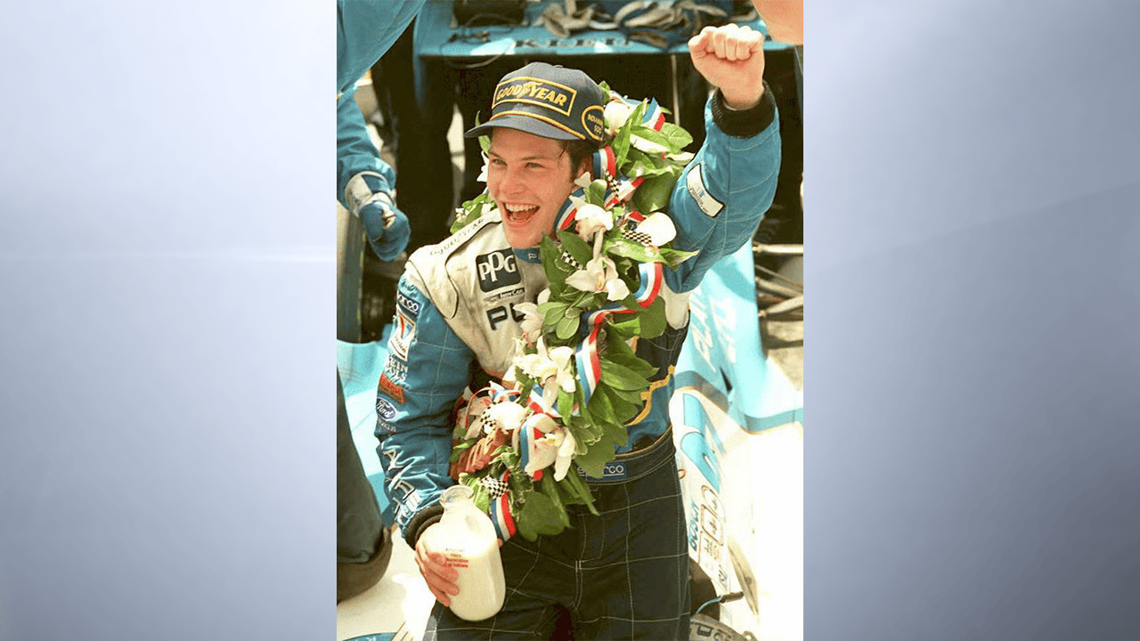
[[[743,112],[723,105],[717,90],[705,106],[705,145],[673,189],[674,246],[700,253],[665,270],[675,292],[700,284],[717,260],[739,250],[772,205],[780,175],[780,122],[772,90]]]

